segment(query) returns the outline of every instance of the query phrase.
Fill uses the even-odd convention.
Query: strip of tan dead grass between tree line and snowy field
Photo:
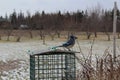
[[[32,33],[33,38],[30,37],[31,36],[30,32]],[[67,38],[68,33],[70,33],[70,32],[62,31],[60,33],[60,36],[61,36],[60,39],[65,40]],[[74,33],[80,40],[87,40],[86,32],[74,32]],[[52,40],[49,31],[44,31],[44,34],[45,34],[45,40]],[[3,40],[3,41],[7,40],[7,35],[8,35],[7,30],[0,30],[1,40]],[[112,33],[110,33],[110,35],[112,38]],[[41,40],[39,30],[32,30],[32,31],[30,31],[30,30],[13,30],[10,35],[10,41],[16,41],[18,36],[21,37],[20,41]],[[54,38],[58,39],[58,35],[55,34]],[[94,34],[91,35],[90,40],[92,40],[93,38],[94,38]],[[98,32],[96,40],[107,40],[107,35],[105,35],[105,33]]]

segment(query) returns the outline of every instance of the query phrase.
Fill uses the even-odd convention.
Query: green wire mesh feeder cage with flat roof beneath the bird
[[[75,53],[48,51],[30,55],[30,80],[75,80]]]

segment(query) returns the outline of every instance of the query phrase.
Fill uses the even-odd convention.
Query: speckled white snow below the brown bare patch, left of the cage
[[[29,79],[29,65],[26,62],[21,62],[20,67],[3,71],[0,80],[30,80]]]

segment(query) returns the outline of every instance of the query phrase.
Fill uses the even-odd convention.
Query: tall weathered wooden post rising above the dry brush
[[[113,58],[116,59],[116,24],[117,24],[117,3],[114,2],[114,15],[113,15]]]

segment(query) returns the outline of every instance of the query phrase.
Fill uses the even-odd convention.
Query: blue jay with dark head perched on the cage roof
[[[63,43],[62,45],[53,47],[53,49],[55,49],[55,48],[57,48],[57,47],[64,47],[64,48],[67,48],[69,51],[71,51],[70,48],[72,48],[72,47],[74,46],[76,39],[77,39],[76,36],[70,35],[70,37],[69,37],[69,39],[68,39],[67,42]]]

